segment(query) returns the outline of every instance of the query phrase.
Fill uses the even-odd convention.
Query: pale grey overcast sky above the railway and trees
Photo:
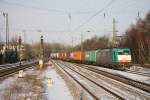
[[[71,44],[73,38],[77,44],[80,34],[84,39],[110,36],[113,18],[117,34],[123,34],[137,21],[138,12],[144,18],[149,10],[150,0],[0,0],[0,35],[5,37],[3,12],[9,14],[11,37],[25,30],[29,43],[43,34],[46,42]]]

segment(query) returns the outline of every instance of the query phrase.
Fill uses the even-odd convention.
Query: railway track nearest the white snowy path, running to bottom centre
[[[94,93],[94,92],[91,90],[91,88],[93,88],[93,87],[96,87],[96,88],[94,88],[95,90],[97,90],[98,88],[103,89],[103,92],[105,92],[105,94],[107,94],[107,96],[108,96],[108,95],[111,95],[111,96],[110,96],[110,97],[111,97],[110,100],[112,100],[112,99],[115,99],[115,100],[116,100],[116,99],[124,100],[124,98],[122,98],[121,96],[119,96],[119,95],[117,95],[117,94],[111,92],[109,89],[106,89],[105,87],[103,87],[103,86],[101,86],[100,84],[94,82],[92,79],[90,79],[90,78],[88,78],[88,77],[82,75],[81,73],[79,73],[79,72],[77,72],[77,71],[75,71],[75,70],[73,70],[73,69],[71,69],[71,68],[69,68],[69,67],[66,67],[66,65],[63,65],[63,64],[58,63],[58,62],[55,62],[55,64],[57,64],[57,66],[59,66],[61,69],[63,69],[63,70],[65,71],[65,73],[67,73],[72,79],[74,79],[74,81],[76,81],[76,82],[77,82],[85,91],[87,91],[87,93],[90,94],[91,97],[94,98],[95,100],[99,100],[99,99],[101,99],[102,97],[100,97],[100,96],[98,95],[99,91],[97,91],[96,93]],[[62,65],[63,65],[63,66],[62,66]],[[75,76],[83,77],[83,79],[77,79],[74,75],[72,75],[72,73],[74,73]],[[82,81],[80,81],[80,80],[82,80]],[[89,81],[89,82],[87,82],[87,83],[89,83],[89,84],[88,84],[89,86],[86,86],[86,85],[84,84],[83,80]],[[90,84],[93,84],[93,85],[90,87]],[[100,93],[99,93],[99,94],[100,94]],[[110,97],[109,97],[109,98],[110,98]]]

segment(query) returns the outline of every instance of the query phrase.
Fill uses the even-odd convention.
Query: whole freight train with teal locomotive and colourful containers
[[[93,63],[97,65],[124,65],[131,63],[129,48],[98,49],[91,51],[74,51],[51,53],[52,59]]]

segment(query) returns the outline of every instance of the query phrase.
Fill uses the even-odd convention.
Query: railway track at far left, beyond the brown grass
[[[11,75],[13,73],[16,73],[19,70],[23,70],[23,69],[32,67],[32,65],[35,65],[37,63],[38,63],[37,61],[32,61],[32,62],[22,63],[21,66],[19,66],[19,63],[1,65],[0,66],[1,67],[0,68],[0,79],[3,79],[6,76],[9,76],[9,75]]]

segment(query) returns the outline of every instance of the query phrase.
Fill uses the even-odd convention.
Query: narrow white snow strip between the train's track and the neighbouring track
[[[116,74],[116,75],[127,77],[129,79],[133,79],[133,80],[137,80],[137,81],[140,81],[140,82],[150,84],[150,77],[148,77],[148,76],[142,76],[142,75],[127,73],[127,72],[124,72],[124,71],[118,71],[118,70],[102,68],[102,67],[97,67],[97,68],[100,69],[100,70],[106,71],[106,72],[110,72],[110,73],[113,73],[113,74]]]

